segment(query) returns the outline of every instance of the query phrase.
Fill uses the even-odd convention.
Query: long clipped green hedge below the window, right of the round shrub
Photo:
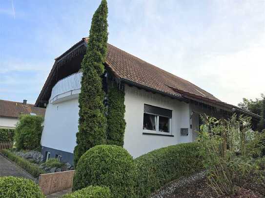
[[[136,158],[138,197],[147,198],[169,181],[203,170],[199,146],[199,143],[177,144]]]

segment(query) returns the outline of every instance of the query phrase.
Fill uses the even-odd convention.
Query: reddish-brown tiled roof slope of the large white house
[[[189,81],[151,65],[150,63],[147,63],[134,55],[128,54],[110,44],[108,44],[106,63],[119,78],[171,95],[181,95],[181,93],[172,89],[176,88],[177,90],[220,101],[212,94]]]

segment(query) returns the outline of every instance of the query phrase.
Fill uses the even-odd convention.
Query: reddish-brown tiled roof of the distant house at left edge
[[[32,104],[0,100],[0,116],[18,118],[21,114],[30,113],[44,116],[45,108],[35,107]]]

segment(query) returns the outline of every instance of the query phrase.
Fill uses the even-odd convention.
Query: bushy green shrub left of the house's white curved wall
[[[16,147],[33,150],[41,144],[43,117],[36,115],[21,115],[15,129]]]

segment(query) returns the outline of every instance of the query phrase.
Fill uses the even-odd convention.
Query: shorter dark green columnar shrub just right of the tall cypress
[[[124,92],[115,83],[108,87],[107,144],[123,146],[125,131]]]

